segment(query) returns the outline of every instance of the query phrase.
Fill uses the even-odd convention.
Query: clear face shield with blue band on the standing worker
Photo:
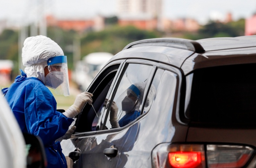
[[[54,89],[56,94],[69,96],[69,76],[67,56],[52,57],[47,60],[49,73],[45,76],[45,86]]]

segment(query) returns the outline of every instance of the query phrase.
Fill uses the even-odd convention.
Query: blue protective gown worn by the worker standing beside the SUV
[[[38,135],[47,155],[47,168],[66,168],[60,142],[73,119],[56,111],[57,103],[50,90],[38,78],[26,78],[22,71],[5,94],[24,133]]]

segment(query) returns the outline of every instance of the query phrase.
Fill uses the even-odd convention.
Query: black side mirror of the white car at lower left
[[[26,142],[27,168],[46,168],[47,160],[39,136],[23,133]]]

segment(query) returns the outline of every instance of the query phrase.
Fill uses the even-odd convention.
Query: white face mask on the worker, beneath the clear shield
[[[60,71],[52,71],[44,78],[44,85],[56,89],[64,81],[64,73]]]

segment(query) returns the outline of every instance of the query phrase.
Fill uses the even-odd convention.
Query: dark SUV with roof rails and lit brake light
[[[130,43],[87,89],[94,108],[63,153],[74,168],[256,167],[255,73],[256,36]]]

